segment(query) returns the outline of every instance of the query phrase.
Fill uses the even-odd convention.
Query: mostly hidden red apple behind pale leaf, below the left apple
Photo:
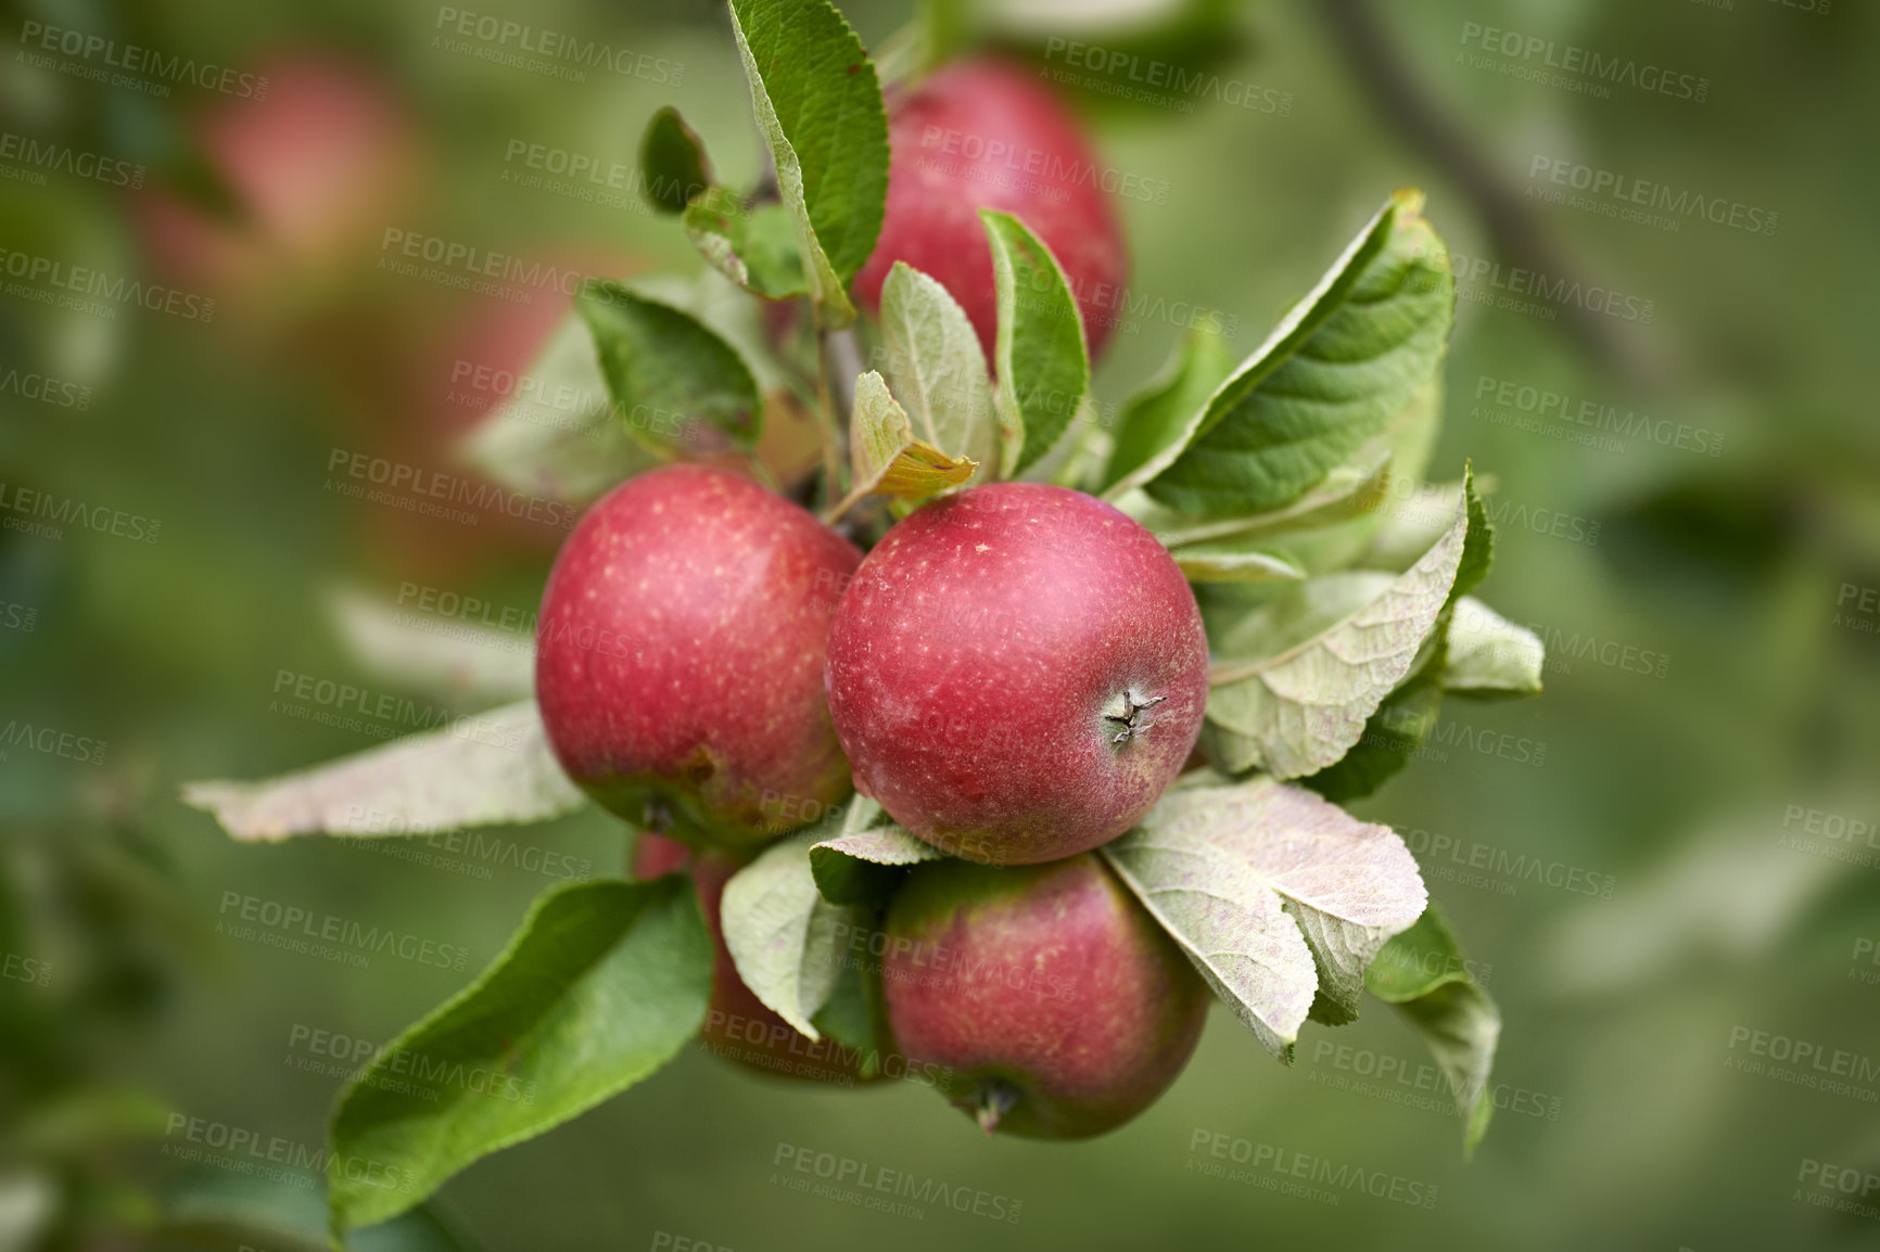
[[[634,846],[634,878],[658,878],[681,869],[692,870],[699,908],[711,929],[711,1004],[705,1009],[705,1028],[699,1032],[705,1047],[714,1056],[776,1077],[837,1087],[854,1087],[884,1077],[878,1070],[872,1077],[863,1079],[861,1064],[867,1055],[861,1049],[846,1047],[829,1036],[812,1040],[801,1034],[765,1008],[763,1000],[737,976],[731,951],[724,946],[724,923],[718,914],[724,884],[737,872],[737,861],[720,852],[694,855],[690,848],[673,838],[639,837]]]

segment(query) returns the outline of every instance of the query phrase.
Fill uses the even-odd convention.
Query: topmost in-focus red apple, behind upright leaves
[[[959,301],[991,355],[998,303],[979,209],[998,209],[1051,248],[1096,359],[1130,263],[1104,165],[1049,86],[1008,62],[953,62],[889,100],[887,154],[887,214],[855,274],[863,306],[880,308],[887,271],[906,261]]]

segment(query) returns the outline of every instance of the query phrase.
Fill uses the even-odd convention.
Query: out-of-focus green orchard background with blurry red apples
[[[13,171],[0,246],[216,305],[207,321],[133,305],[102,318],[13,286],[0,295],[0,372],[13,372],[0,387],[0,703],[9,726],[70,735],[0,744],[0,1246],[320,1246],[314,1173],[188,1160],[177,1119],[316,1149],[340,1077],[310,1068],[305,1040],[384,1041],[468,972],[384,955],[353,968],[244,942],[218,929],[231,895],[457,944],[474,970],[555,882],[502,855],[446,863],[444,848],[425,865],[335,840],[237,846],[177,801],[186,778],[278,773],[402,729],[320,724],[306,701],[295,716],[276,699],[282,675],[434,699],[348,650],[337,590],[395,600],[421,587],[528,615],[562,536],[335,489],[337,459],[355,453],[461,472],[453,442],[479,414],[453,395],[453,363],[523,367],[558,312],[553,291],[517,305],[391,273],[385,231],[609,276],[694,273],[682,231],[632,188],[590,203],[526,186],[515,154],[545,145],[632,165],[645,118],[669,103],[729,182],[758,171],[718,6],[476,4],[682,73],[570,81],[453,51],[453,6],[6,6],[8,135],[145,173],[115,186],[0,154]],[[842,8],[870,47],[914,17],[906,4]],[[1350,1056],[1414,1070],[1421,1045],[1391,1015],[1314,1030],[1288,1072],[1220,1013],[1160,1105],[1081,1147],[985,1141],[912,1085],[805,1090],[686,1055],[474,1166],[359,1246],[543,1252],[662,1246],[662,1233],[739,1250],[1871,1246],[1871,1220],[1810,1205],[1797,1184],[1803,1160],[1880,1173],[1869,1098],[1731,1068],[1745,1058],[1737,1030],[1880,1055],[1880,985],[1861,978],[1880,870],[1784,846],[1810,810],[1869,829],[1880,818],[1880,613],[1857,609],[1880,587],[1867,400],[1880,393],[1867,290],[1880,259],[1880,11],[1818,8],[938,11],[963,43],[1045,68],[1062,68],[1075,39],[1284,98],[1269,111],[1203,94],[1190,111],[1104,83],[1072,92],[1107,164],[1167,182],[1166,203],[1120,205],[1134,290],[1235,318],[1239,353],[1406,184],[1429,192],[1457,256],[1653,301],[1649,325],[1472,299],[1457,314],[1433,476],[1472,457],[1495,477],[1506,511],[1485,594],[1547,637],[1547,694],[1451,703],[1449,746],[1438,735],[1359,812],[1421,833],[1412,846],[1436,899],[1491,968],[1508,1088],[1472,1164],[1453,1117],[1339,1088],[1363,1062],[1314,1051],[1348,1043]],[[244,124],[256,105],[235,94],[177,85],[164,98],[34,64],[30,23],[267,73],[278,130]],[[1707,98],[1596,98],[1480,68],[1470,24],[1688,71],[1709,79]],[[1683,220],[1673,233],[1545,203],[1527,194],[1542,184],[1536,156],[1760,207],[1778,226]],[[254,190],[269,177],[271,199]],[[1470,274],[1463,288],[1496,293]],[[1100,367],[1100,400],[1122,400],[1177,336],[1171,320],[1130,320]],[[70,389],[34,397],[28,376]],[[1478,406],[1500,380],[1715,432],[1722,451],[1637,434],[1585,446],[1545,417],[1498,423]],[[13,526],[21,489],[160,530],[32,534]],[[1596,523],[1596,541],[1562,538],[1555,517],[1574,523],[1566,534]],[[1587,639],[1600,647],[1575,656]],[[1668,658],[1664,675],[1602,664],[1609,643]],[[1468,748],[1502,735],[1543,744],[1542,761]],[[592,812],[500,837],[594,874],[617,872],[628,842]],[[1506,859],[1472,878],[1470,855],[1611,876],[1613,893],[1517,878]],[[1416,1179],[1438,1203],[1324,1205],[1203,1177],[1198,1132]],[[784,1145],[996,1192],[1023,1216],[929,1207],[908,1220],[793,1194],[773,1164]]]

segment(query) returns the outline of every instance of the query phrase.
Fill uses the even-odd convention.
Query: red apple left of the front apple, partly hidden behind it
[[[617,487],[541,596],[536,699],[562,769],[628,822],[720,846],[842,801],[822,671],[859,562],[726,470],[675,464]]]

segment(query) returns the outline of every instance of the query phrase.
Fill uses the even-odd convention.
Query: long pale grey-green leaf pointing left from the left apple
[[[536,701],[525,699],[278,778],[186,782],[182,803],[250,840],[545,822],[587,797],[549,750]]]

